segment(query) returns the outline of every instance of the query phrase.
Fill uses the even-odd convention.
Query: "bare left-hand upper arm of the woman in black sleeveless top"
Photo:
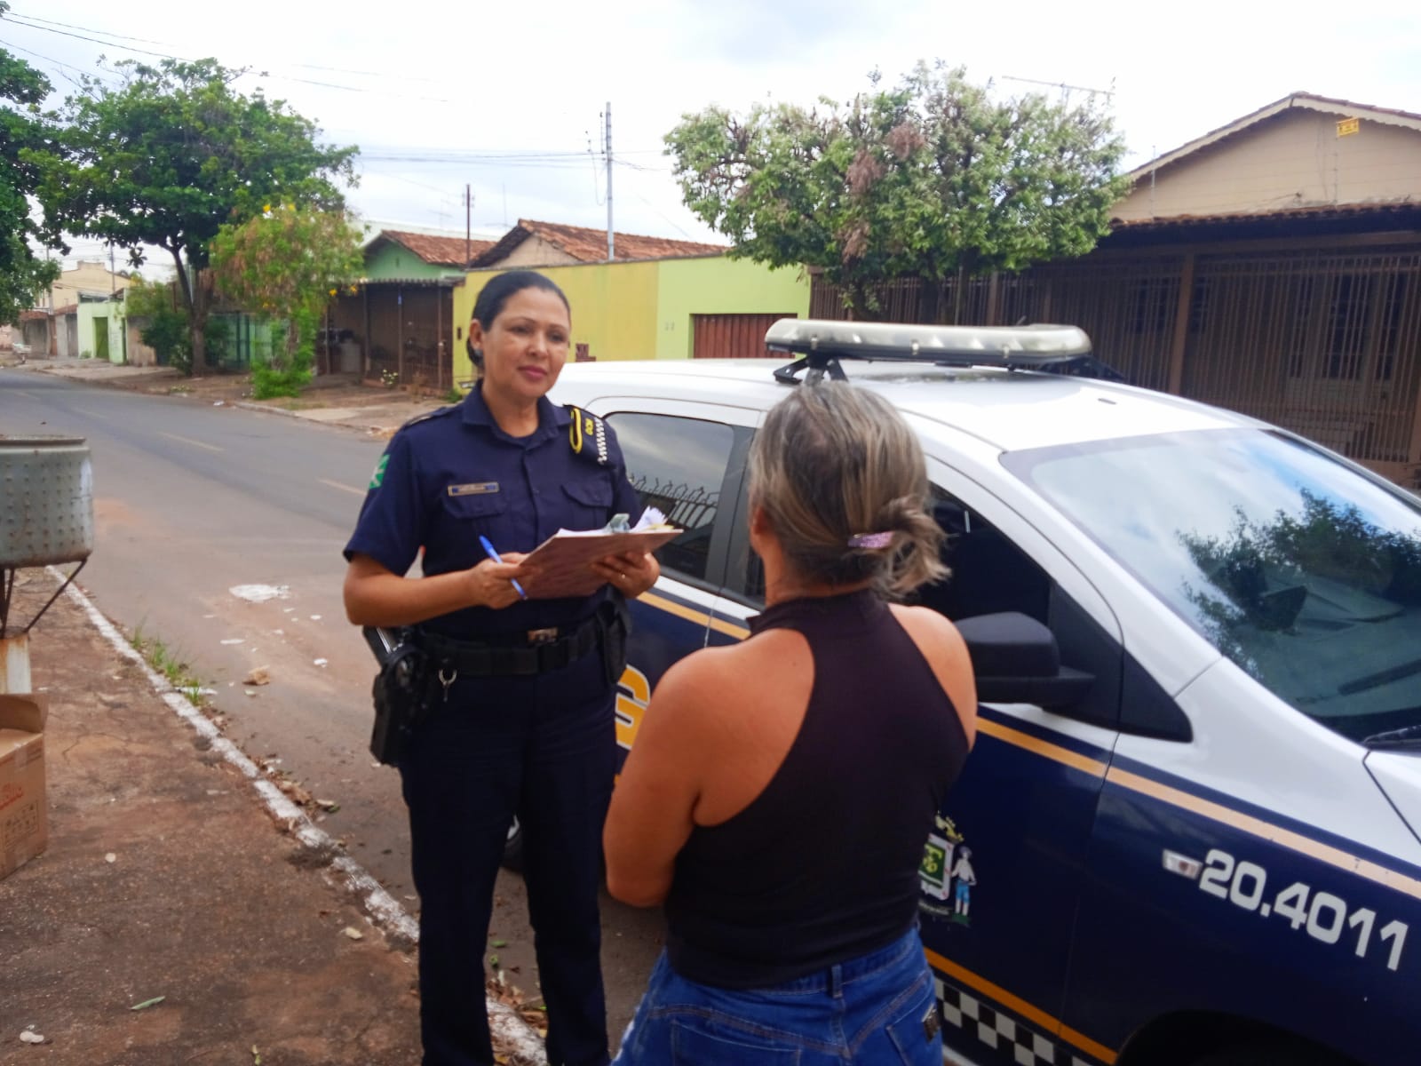
[[[699,654],[678,662],[657,685],[627,756],[603,830],[607,891],[632,907],[655,907],[671,891],[676,854],[693,826],[705,765],[702,694],[713,677]]]

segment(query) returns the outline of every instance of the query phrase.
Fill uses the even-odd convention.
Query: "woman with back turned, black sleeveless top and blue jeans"
[[[880,397],[800,385],[750,453],[766,610],[662,678],[622,768],[611,894],[665,903],[617,1063],[941,1066],[918,866],[976,733],[922,452]]]

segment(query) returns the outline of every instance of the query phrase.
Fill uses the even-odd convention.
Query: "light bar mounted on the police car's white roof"
[[[932,362],[945,367],[1046,370],[1064,362],[1090,362],[1090,337],[1076,325],[904,325],[824,318],[782,318],[764,334],[764,345],[803,358],[774,371],[793,382],[809,368],[806,384],[827,372],[843,381],[838,360]]]

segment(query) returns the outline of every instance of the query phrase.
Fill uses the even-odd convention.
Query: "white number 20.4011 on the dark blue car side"
[[[1337,944],[1343,934],[1354,935],[1358,958],[1366,958],[1376,945],[1387,957],[1387,969],[1401,965],[1401,951],[1407,942],[1405,922],[1390,921],[1377,928],[1377,912],[1370,907],[1349,911],[1344,900],[1331,893],[1314,893],[1302,881],[1293,881],[1269,897],[1268,873],[1263,867],[1238,861],[1228,851],[1214,849],[1205,856],[1199,888],[1246,911],[1258,911],[1265,918],[1282,915],[1295,930],[1306,928],[1309,937],[1323,944]]]

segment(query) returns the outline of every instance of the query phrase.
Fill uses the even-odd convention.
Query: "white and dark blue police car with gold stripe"
[[[922,603],[982,699],[921,868],[948,1059],[1421,1060],[1421,500],[1266,424],[1049,372],[1088,361],[1071,328],[767,341],[804,358],[570,365],[554,392],[685,530],[632,605],[620,743],[676,658],[749,634],[750,439],[804,374],[847,375],[922,442],[953,570]]]

